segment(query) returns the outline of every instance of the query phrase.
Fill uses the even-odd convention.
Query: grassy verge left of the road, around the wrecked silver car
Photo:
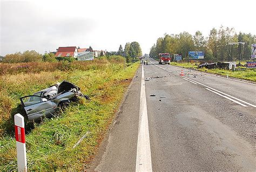
[[[18,98],[64,79],[78,85],[83,93],[90,95],[91,101],[80,99],[59,116],[34,124],[35,128],[26,134],[28,169],[84,170],[97,153],[99,143],[138,66],[130,65],[126,72],[122,63],[107,63],[95,70],[3,75],[0,78],[0,93],[4,98],[1,99],[9,105],[0,104],[0,109],[9,109],[10,112],[9,115],[1,114],[0,170],[17,170],[12,116],[18,112]],[[72,148],[86,132],[90,134],[76,148]]]

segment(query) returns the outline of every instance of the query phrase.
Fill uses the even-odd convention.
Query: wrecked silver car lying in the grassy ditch
[[[89,100],[89,97],[84,95],[78,86],[64,80],[60,84],[52,85],[33,95],[22,97],[20,100],[28,120],[39,121],[44,116],[49,118],[60,109],[64,110],[71,101],[76,101],[78,97]]]

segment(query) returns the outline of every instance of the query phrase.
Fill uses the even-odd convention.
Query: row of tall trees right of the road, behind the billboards
[[[244,42],[245,44],[229,45],[228,43]],[[194,35],[181,32],[178,35],[168,35],[157,39],[150,49],[150,56],[158,56],[158,53],[169,52],[182,54],[183,59],[188,59],[188,51],[204,51],[207,61],[235,61],[249,60],[251,58],[251,45],[256,42],[256,36],[251,33],[238,34],[234,28],[220,26],[213,28],[208,37],[204,37],[200,31]]]

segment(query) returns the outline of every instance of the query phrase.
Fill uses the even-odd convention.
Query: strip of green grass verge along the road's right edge
[[[235,71],[222,70],[222,69],[207,69],[207,68],[198,68],[197,66],[199,64],[197,64],[197,63],[176,63],[176,62],[172,62],[171,65],[181,66],[181,67],[185,67],[185,68],[193,68],[198,71],[209,72],[209,73],[214,73],[214,74],[219,74],[219,75],[224,75],[224,76],[228,76],[228,77],[245,79],[245,80],[250,80],[250,81],[256,82],[256,69],[251,69],[251,68],[246,68],[246,67],[237,67],[237,70],[235,70]]]

